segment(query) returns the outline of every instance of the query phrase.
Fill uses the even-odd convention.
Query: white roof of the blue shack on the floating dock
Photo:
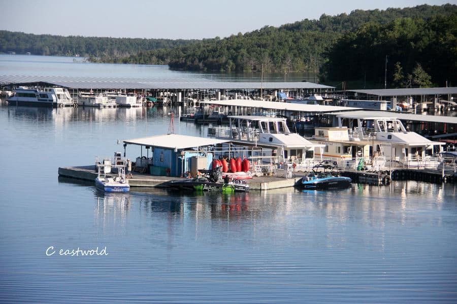
[[[124,139],[126,144],[142,146],[162,147],[168,149],[190,149],[227,142],[228,140],[214,139],[209,137],[196,137],[179,134],[155,135],[142,138]]]

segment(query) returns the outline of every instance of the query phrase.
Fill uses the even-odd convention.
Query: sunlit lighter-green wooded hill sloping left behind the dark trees
[[[111,61],[168,63],[171,68],[183,70],[250,71],[263,66],[266,71],[318,71],[329,60],[329,50],[344,35],[365,24],[382,26],[399,18],[426,20],[436,15],[452,16],[456,13],[455,5],[356,10],[349,15],[322,15],[319,20],[305,19],[281,27],[265,26],[224,39],[216,37],[171,50],[143,51]]]

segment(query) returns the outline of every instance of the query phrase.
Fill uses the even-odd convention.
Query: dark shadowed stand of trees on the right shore
[[[366,23],[324,53],[321,80],[361,80],[387,87],[457,85],[457,14]],[[388,72],[386,72],[388,71]]]

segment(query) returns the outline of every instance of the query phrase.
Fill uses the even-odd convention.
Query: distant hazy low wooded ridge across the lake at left
[[[0,30],[0,53],[117,58],[195,42],[197,40],[35,35]]]

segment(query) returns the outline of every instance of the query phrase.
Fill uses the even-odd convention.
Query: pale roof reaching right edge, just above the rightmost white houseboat
[[[431,122],[431,123],[446,123],[457,124],[457,117],[450,116],[433,116],[433,115],[417,115],[417,114],[404,114],[390,111],[350,111],[350,112],[333,112],[329,113],[339,117],[348,118],[398,118],[401,120]]]

